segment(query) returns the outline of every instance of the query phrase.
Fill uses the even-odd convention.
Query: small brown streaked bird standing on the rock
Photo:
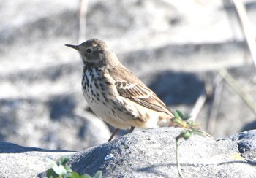
[[[77,50],[82,58],[82,90],[89,107],[115,128],[108,142],[120,129],[156,128],[173,119],[173,112],[121,64],[105,42],[89,39],[65,46]]]

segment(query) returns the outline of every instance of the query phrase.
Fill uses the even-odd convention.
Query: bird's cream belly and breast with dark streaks
[[[159,123],[159,113],[151,112],[127,98],[121,97],[116,90],[115,82],[103,78],[94,80],[97,76],[93,71],[83,80],[83,96],[91,110],[106,123],[113,127],[128,129],[131,126],[138,128],[154,128]]]

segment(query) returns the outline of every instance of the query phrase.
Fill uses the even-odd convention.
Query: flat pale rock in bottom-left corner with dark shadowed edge
[[[74,152],[65,150],[46,150],[37,147],[22,147],[17,144],[0,142],[0,177],[37,177],[50,169],[46,158],[58,160],[61,156]]]

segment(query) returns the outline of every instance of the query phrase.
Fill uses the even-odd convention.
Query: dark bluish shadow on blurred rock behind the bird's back
[[[165,104],[194,104],[204,90],[204,82],[195,73],[165,71],[154,77],[151,90]]]

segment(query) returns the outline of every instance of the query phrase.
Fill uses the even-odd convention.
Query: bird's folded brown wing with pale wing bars
[[[161,99],[127,69],[111,70],[110,73],[113,79],[116,80],[116,88],[121,96],[129,98],[148,109],[165,112],[173,116],[173,113],[170,112]]]

